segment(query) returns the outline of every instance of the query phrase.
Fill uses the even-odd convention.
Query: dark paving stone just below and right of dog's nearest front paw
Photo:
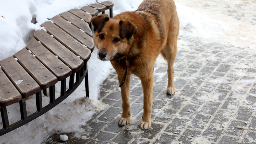
[[[153,139],[156,135],[158,135],[162,127],[163,126],[161,124],[151,123],[151,128],[144,130],[144,132],[140,134],[140,137]]]

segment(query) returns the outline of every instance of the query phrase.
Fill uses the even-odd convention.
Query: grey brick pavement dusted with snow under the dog
[[[178,41],[175,95],[166,95],[166,62],[158,58],[155,64],[149,130],[138,128],[143,91],[134,75],[130,83],[131,123],[118,126],[122,98],[113,70],[103,82],[99,97],[108,107],[95,113],[83,127],[85,139],[75,137],[65,143],[256,144],[256,52],[183,35]],[[54,138],[48,141],[52,142]]]

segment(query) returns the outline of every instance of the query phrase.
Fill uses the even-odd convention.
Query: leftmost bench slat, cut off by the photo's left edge
[[[2,69],[0,69],[0,106],[9,106],[21,99],[20,92],[18,92]]]

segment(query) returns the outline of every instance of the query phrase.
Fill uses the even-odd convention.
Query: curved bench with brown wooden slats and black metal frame
[[[0,136],[41,116],[58,105],[85,79],[86,96],[89,97],[87,62],[94,50],[90,20],[99,12],[110,10],[113,3],[91,4],[81,9],[63,12],[45,22],[45,30],[34,32],[26,48],[13,57],[0,61]],[[66,79],[69,87],[66,90]],[[60,96],[55,98],[55,84],[60,83]],[[49,89],[50,103],[42,106],[42,90]],[[36,95],[37,111],[27,116],[26,98]],[[46,93],[45,93],[46,94]],[[21,119],[9,124],[7,106],[19,102]]]

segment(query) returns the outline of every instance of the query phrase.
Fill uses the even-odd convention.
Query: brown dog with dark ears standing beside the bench
[[[123,114],[119,125],[130,123],[132,73],[140,78],[144,94],[144,112],[139,127],[148,129],[151,127],[154,64],[160,53],[168,63],[167,94],[175,93],[173,65],[179,20],[174,1],[144,0],[136,11],[123,12],[111,19],[103,14],[93,17],[91,22],[95,28],[94,43],[98,48],[98,58],[110,60],[116,69],[119,83],[123,84]]]

